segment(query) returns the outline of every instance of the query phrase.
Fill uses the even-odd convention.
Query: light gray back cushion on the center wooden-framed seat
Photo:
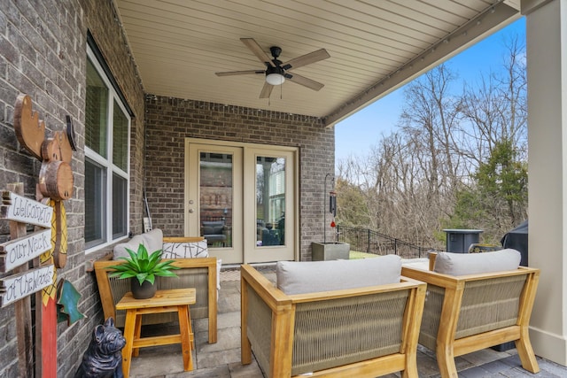
[[[401,258],[396,255],[276,264],[277,288],[288,295],[397,283],[400,274]]]

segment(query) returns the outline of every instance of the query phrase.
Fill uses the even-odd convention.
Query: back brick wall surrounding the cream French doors
[[[325,174],[334,172],[335,132],[322,121],[163,96],[146,96],[146,186],[154,228],[168,236],[184,231],[184,139],[299,147],[300,256],[322,242]]]

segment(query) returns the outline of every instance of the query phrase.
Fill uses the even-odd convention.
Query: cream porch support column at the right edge
[[[541,269],[530,338],[567,366],[567,0],[522,0],[526,16],[529,265]]]

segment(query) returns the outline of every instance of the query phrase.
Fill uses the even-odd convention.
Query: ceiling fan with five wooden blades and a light
[[[293,68],[298,68],[301,66],[307,66],[311,63],[318,62],[320,60],[330,58],[329,53],[325,49],[316,50],[308,54],[302,55],[298,58],[293,58],[283,63],[278,59],[282,53],[282,49],[277,46],[272,46],[269,48],[270,54],[273,58],[269,58],[268,54],[262,50],[258,42],[254,41],[253,38],[240,38],[248,49],[252,50],[254,55],[260,59],[264,65],[266,65],[266,70],[248,70],[248,71],[232,71],[227,73],[215,73],[217,76],[233,76],[233,75],[245,75],[245,74],[265,74],[266,81],[264,82],[264,87],[260,92],[260,98],[268,98],[272,93],[275,85],[283,84],[286,79],[295,82],[299,85],[303,85],[309,89],[319,90],[324,86],[318,81],[307,79],[305,76],[301,76],[298,73],[289,73],[288,71]]]

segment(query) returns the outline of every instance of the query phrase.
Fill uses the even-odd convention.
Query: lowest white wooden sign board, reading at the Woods
[[[14,274],[0,280],[0,307],[10,305],[43,288],[54,284],[55,266],[43,266],[23,274]]]

